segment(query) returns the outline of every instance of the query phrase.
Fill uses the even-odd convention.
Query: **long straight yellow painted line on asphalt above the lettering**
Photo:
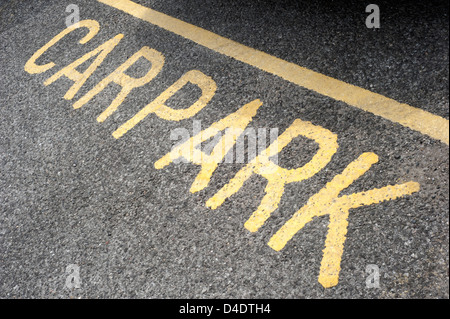
[[[130,0],[98,0],[213,51],[277,75],[322,95],[371,112],[449,145],[449,121],[416,107],[345,83],[252,49],[205,29],[139,5]]]

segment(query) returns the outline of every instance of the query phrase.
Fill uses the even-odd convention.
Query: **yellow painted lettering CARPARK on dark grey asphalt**
[[[80,40],[80,43],[82,44],[89,41],[99,31],[98,23],[92,20],[80,22],[77,28],[80,27],[86,27],[89,29],[89,33]],[[36,74],[46,72],[47,70],[53,68],[55,66],[53,62],[45,65],[37,65],[36,61],[43,53],[45,53],[47,49],[74,29],[75,28],[68,28],[64,30],[48,42],[44,47],[36,51],[28,62],[26,62],[25,70],[31,74]],[[44,84],[49,85],[58,80],[60,77],[66,76],[75,83],[65,94],[64,98],[72,99],[87,78],[103,62],[114,47],[117,46],[122,37],[122,34],[118,34],[114,38],[101,44],[97,49],[85,54],[83,57],[62,68],[60,71],[48,78]],[[90,64],[86,71],[80,73],[76,70],[78,66],[95,56],[96,59]],[[141,57],[146,58],[152,63],[152,67],[149,69],[147,74],[141,78],[132,78],[127,76],[125,71],[136,63],[136,61]],[[123,102],[123,99],[126,98],[128,93],[133,88],[142,86],[151,81],[151,79],[153,79],[156,74],[160,72],[163,63],[164,57],[161,53],[148,47],[143,47],[118,69],[116,69],[116,71],[99,82],[99,84],[97,84],[87,93],[87,95],[85,95],[85,97],[76,102],[74,107],[78,108],[87,103],[90,99],[92,99],[92,97],[101,92],[104,87],[109,85],[111,82],[121,85],[122,91],[99,117],[98,120],[101,122],[119,107],[119,105]],[[197,85],[202,90],[202,95],[197,102],[185,109],[172,109],[165,105],[166,101],[188,82]],[[185,73],[158,98],[145,106],[133,118],[122,125],[113,133],[113,136],[115,138],[119,138],[151,113],[155,113],[158,117],[170,121],[179,121],[192,117],[206,106],[206,104],[214,96],[216,89],[216,83],[212,78],[200,71],[191,70]],[[236,143],[237,137],[244,132],[244,129],[256,115],[256,112],[261,105],[262,102],[260,100],[254,100],[241,107],[241,109],[235,113],[213,123],[209,128],[199,132],[199,134],[195,135],[187,142],[184,142],[182,145],[177,146],[170,153],[158,160],[155,163],[155,168],[161,169],[169,165],[174,159],[180,156],[185,157],[192,163],[201,166],[201,171],[192,184],[191,192],[194,193],[204,189],[208,186],[210,178],[217,168],[217,165],[223,160],[225,154],[227,154],[227,152]],[[200,145],[202,142],[217,135],[223,130],[226,130],[225,135],[221,137],[221,140],[214,147],[210,155],[195,148],[195,146]],[[287,170],[279,167],[270,160],[270,157],[278,154],[292,141],[292,139],[299,135],[312,139],[319,144],[319,151],[309,163],[297,169]],[[337,151],[337,148],[338,144],[336,134],[320,126],[315,126],[310,122],[296,119],[293,124],[277,138],[275,142],[270,144],[267,149],[262,151],[261,154],[259,154],[254,160],[242,168],[228,184],[226,184],[221,190],[219,190],[219,192],[208,200],[206,205],[212,209],[217,208],[226,198],[239,191],[244,182],[252,174],[259,174],[263,176],[268,180],[266,195],[261,201],[258,210],[252,214],[250,219],[245,224],[245,227],[248,230],[257,231],[259,227],[261,227],[270,217],[271,213],[277,208],[283,195],[285,185],[311,178],[330,162],[333,154]],[[270,239],[268,245],[274,250],[281,250],[287,242],[291,240],[291,238],[314,217],[329,215],[329,230],[325,242],[325,249],[323,251],[324,256],[320,269],[319,282],[324,287],[332,287],[336,285],[339,279],[340,262],[344,249],[345,237],[347,234],[347,219],[349,210],[364,205],[376,204],[382,201],[410,195],[420,189],[420,185],[418,183],[408,182],[338,197],[342,190],[347,188],[353,183],[353,181],[362,176],[377,161],[378,157],[376,154],[365,153],[350,163],[341,174],[334,177],[332,181],[326,184],[320,192],[313,195],[307,204],[296,212],[293,217]]]

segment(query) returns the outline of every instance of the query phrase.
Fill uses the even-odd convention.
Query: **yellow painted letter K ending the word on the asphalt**
[[[347,235],[349,210],[410,195],[420,189],[419,183],[407,182],[338,197],[342,190],[350,186],[376,162],[378,162],[376,154],[364,153],[350,163],[341,174],[335,176],[321,191],[312,196],[308,203],[272,236],[268,245],[279,251],[314,217],[329,215],[330,223],[323,250],[319,282],[325,288],[336,286]]]

